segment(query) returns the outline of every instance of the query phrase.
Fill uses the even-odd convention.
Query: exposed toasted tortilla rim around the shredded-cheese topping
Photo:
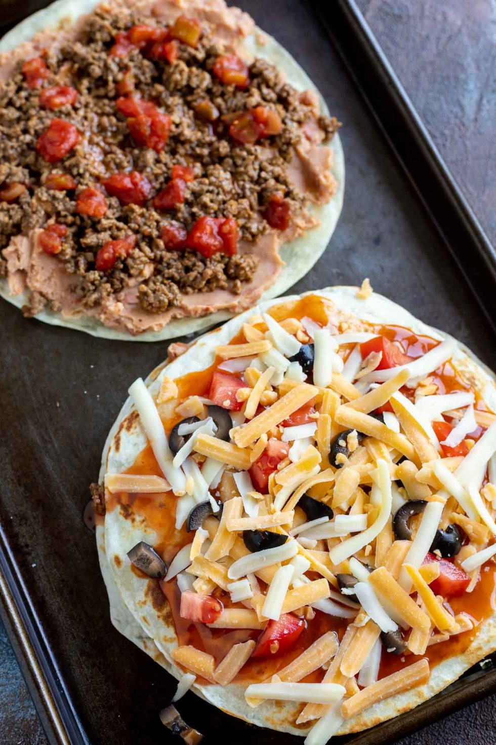
[[[353,314],[360,320],[379,324],[394,323],[395,325],[406,326],[419,335],[428,335],[439,340],[448,338],[445,333],[426,326],[425,323],[417,320],[404,308],[390,300],[378,294],[373,294],[369,299],[359,299],[356,297],[356,291],[357,288],[353,287],[335,287],[309,294],[318,294],[331,299],[339,310]],[[233,318],[222,328],[199,337],[184,355],[170,364],[164,364],[156,368],[149,375],[147,384],[152,395],[156,395],[158,392],[161,378],[164,375],[177,378],[186,373],[196,372],[201,369],[199,368],[200,360],[203,368],[208,367],[213,361],[214,347],[219,343],[228,343],[228,340],[240,329],[242,323],[248,320],[252,314],[262,312],[271,305],[286,300],[294,301],[299,297],[289,296],[260,303],[251,311]],[[453,361],[457,369],[466,378],[470,378],[474,389],[480,392],[487,405],[492,410],[496,410],[494,373],[461,343],[458,343]],[[146,446],[146,435],[135,412],[132,412],[132,403],[128,399],[117,416],[103,450],[100,481],[103,480],[103,475],[106,472],[122,472],[131,466],[144,446]],[[150,592],[153,586],[157,587],[156,583],[145,582],[137,577],[131,571],[129,559],[126,557],[127,551],[138,541],[145,540],[153,544],[154,539],[154,533],[141,518],[134,516],[131,519],[125,519],[120,510],[113,510],[107,513],[105,519],[106,554],[103,554],[103,545],[101,539],[98,539],[100,561],[103,564],[106,561],[105,574],[110,568],[110,574],[112,575],[112,583],[108,575],[106,583],[108,587],[112,586],[112,590],[109,591],[113,614],[112,621],[117,629],[131,638],[132,641],[135,641],[141,648],[144,648],[144,637],[152,637],[156,647],[163,655],[162,664],[176,678],[179,678],[182,671],[175,665],[171,657],[172,650],[177,646],[177,640],[167,601],[162,599],[158,592]],[[116,589],[117,592],[115,592]],[[115,603],[118,607],[115,606]],[[127,612],[125,612],[123,606],[125,606]],[[129,616],[132,616],[134,620],[132,621]],[[146,643],[149,644],[148,641]],[[408,711],[442,691],[471,665],[495,650],[496,614],[480,625],[476,637],[463,654],[451,657],[451,659],[441,662],[434,668],[427,685],[376,704],[355,719],[348,721],[338,734],[359,732]],[[146,651],[150,653],[149,649],[146,649]],[[266,701],[257,708],[251,708],[245,702],[244,688],[244,685],[236,683],[223,687],[219,685],[193,685],[193,691],[196,694],[223,711],[240,717],[249,723],[282,732],[290,732],[295,735],[304,735],[309,731],[308,725],[295,726],[294,724],[300,708],[296,704],[278,702],[276,706],[274,702]]]

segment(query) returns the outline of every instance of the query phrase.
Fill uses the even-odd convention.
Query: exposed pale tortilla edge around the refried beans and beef
[[[91,13],[100,4],[100,1],[57,0],[44,10],[33,13],[32,16],[29,16],[5,34],[0,40],[0,52],[13,50],[22,42],[30,41],[40,31],[57,29],[74,23],[83,14]],[[261,38],[263,39],[262,44],[260,44]],[[265,34],[260,28],[254,28],[254,32],[246,37],[242,44],[248,57],[263,57],[263,59],[276,65],[286,75],[288,82],[297,90],[312,89],[318,92],[312,80],[310,80],[306,72],[294,60],[292,55],[276,39]],[[320,94],[319,98],[321,99],[322,111],[328,114],[329,110]],[[312,205],[311,212],[318,218],[320,224],[306,233],[306,235],[295,238],[294,241],[283,244],[280,248],[280,256],[286,262],[286,265],[282,268],[274,285],[265,291],[262,299],[277,297],[286,292],[312,269],[315,262],[320,259],[326,250],[343,206],[344,153],[338,134],[335,134],[333,137],[331,148],[333,152],[332,174],[338,183],[337,191],[331,200],[329,200],[329,203],[325,205]],[[13,305],[16,305],[17,308],[22,308],[22,305],[26,305],[28,302],[28,293],[26,291],[20,295],[11,295],[8,291],[6,280],[0,280],[0,296]],[[178,318],[168,323],[167,326],[164,326],[164,329],[161,329],[161,331],[144,332],[136,336],[132,336],[126,332],[116,331],[115,329],[109,329],[103,323],[100,323],[100,321],[90,317],[62,318],[59,314],[50,310],[42,310],[35,317],[45,323],[50,323],[52,326],[66,326],[69,329],[77,329],[92,336],[103,337],[105,339],[161,341],[207,329],[209,326],[221,323],[232,316],[233,314],[228,311],[217,311],[216,313],[202,317]]]

